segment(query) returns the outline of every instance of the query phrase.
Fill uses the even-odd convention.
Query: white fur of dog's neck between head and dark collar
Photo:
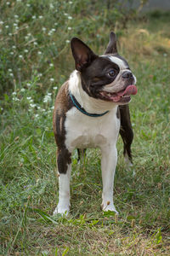
[[[113,102],[105,102],[88,96],[85,90],[82,89],[81,74],[77,70],[71,73],[69,79],[69,90],[77,99],[77,102],[89,113],[103,113],[111,109],[117,109]]]

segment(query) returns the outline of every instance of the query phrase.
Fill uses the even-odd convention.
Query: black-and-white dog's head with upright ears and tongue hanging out
[[[122,105],[130,102],[130,95],[137,93],[136,78],[127,61],[117,53],[114,32],[111,32],[105,55],[95,55],[78,38],[72,38],[71,49],[76,69],[81,73],[82,89],[88,96]]]

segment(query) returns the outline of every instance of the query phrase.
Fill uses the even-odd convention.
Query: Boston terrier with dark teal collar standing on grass
[[[54,105],[54,137],[57,143],[59,202],[54,214],[70,210],[71,153],[75,148],[100,148],[102,209],[116,212],[113,184],[120,134],[124,156],[132,163],[133,129],[128,103],[137,93],[136,78],[117,52],[111,32],[104,55],[96,55],[79,38],[71,39],[76,70],[58,92]],[[121,128],[121,129],[120,129]]]

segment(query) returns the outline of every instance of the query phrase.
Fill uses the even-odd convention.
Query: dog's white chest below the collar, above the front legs
[[[119,129],[116,108],[97,118],[71,108],[65,119],[65,146],[72,151],[74,148],[101,148],[106,144],[116,144]]]

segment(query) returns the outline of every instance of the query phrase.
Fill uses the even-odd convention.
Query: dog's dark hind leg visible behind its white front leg
[[[121,114],[120,134],[122,137],[122,141],[124,143],[123,154],[126,162],[128,162],[128,164],[132,166],[133,159],[132,159],[131,144],[133,143],[133,127],[130,120],[129,107],[128,105],[122,105],[122,106],[119,106],[118,109]]]

